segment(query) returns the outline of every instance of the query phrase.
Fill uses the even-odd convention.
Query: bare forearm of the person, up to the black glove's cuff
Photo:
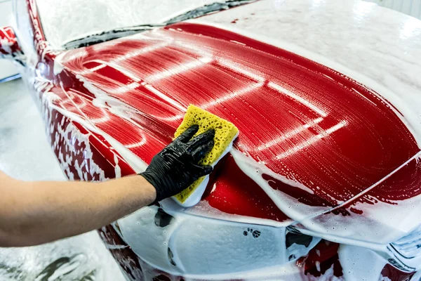
[[[156,196],[142,176],[103,183],[13,181],[8,188],[8,202],[0,207],[6,211],[0,218],[3,246],[41,244],[86,233],[145,207]],[[7,241],[1,241],[2,232]]]

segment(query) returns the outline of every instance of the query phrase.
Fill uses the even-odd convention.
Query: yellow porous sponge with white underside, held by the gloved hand
[[[175,131],[175,138],[180,136],[182,132],[192,125],[199,125],[199,131],[197,131],[195,136],[204,133],[208,129],[215,129],[215,145],[213,146],[213,149],[201,159],[201,162],[199,162],[199,164],[202,165],[215,166],[215,164],[231,150],[232,142],[236,136],[239,135],[239,129],[231,122],[213,115],[206,110],[202,110],[200,107],[189,105],[184,119],[177,131]],[[173,198],[183,207],[192,207],[201,200],[208,181],[209,176],[203,176]]]

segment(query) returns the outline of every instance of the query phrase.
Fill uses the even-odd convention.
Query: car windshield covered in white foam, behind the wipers
[[[189,15],[189,18],[203,15],[203,11],[192,13],[201,7],[210,6],[211,8],[208,9],[210,12],[246,4],[246,2],[250,1],[37,0],[36,4],[47,41],[53,48],[60,49],[69,48],[63,46],[80,39],[85,39],[85,41],[79,46],[88,45],[86,41],[105,41],[105,39],[98,39],[98,36],[92,36],[93,34],[107,33],[109,35],[115,34],[114,30],[118,30],[122,33],[121,36],[126,36],[130,34],[130,31],[139,32],[141,30],[128,27],[162,26],[187,19],[183,18],[183,14]],[[229,6],[227,6],[228,3],[230,3]],[[117,37],[110,38],[108,36],[108,38]],[[70,48],[78,46],[77,44],[71,45]]]

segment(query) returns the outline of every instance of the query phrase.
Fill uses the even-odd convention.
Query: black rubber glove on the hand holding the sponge
[[[201,166],[199,161],[213,148],[213,129],[192,139],[199,126],[189,127],[184,133],[152,158],[151,164],[140,176],[156,189],[156,200],[180,193],[201,176],[212,171],[212,166]]]

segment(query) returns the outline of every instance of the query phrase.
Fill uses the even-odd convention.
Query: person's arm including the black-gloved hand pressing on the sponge
[[[214,133],[190,141],[197,129],[188,129],[136,176],[102,183],[24,182],[0,173],[0,247],[85,233],[184,190],[212,170],[198,162],[213,147]]]

